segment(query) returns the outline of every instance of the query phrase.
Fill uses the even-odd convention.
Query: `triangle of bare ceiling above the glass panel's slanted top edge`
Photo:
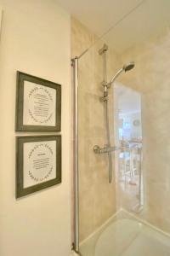
[[[57,0],[82,24],[101,36],[144,0]]]

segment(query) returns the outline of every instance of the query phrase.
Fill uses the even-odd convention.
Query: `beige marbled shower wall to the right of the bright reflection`
[[[128,49],[122,62],[136,67],[122,83],[142,97],[144,212],[141,217],[170,232],[170,30]]]

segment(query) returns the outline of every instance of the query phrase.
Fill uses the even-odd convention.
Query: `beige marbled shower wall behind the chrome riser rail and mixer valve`
[[[71,20],[72,57],[94,44],[96,36],[75,20]],[[79,61],[79,172],[80,172],[80,238],[81,241],[116,212],[116,184],[108,183],[107,155],[94,154],[93,147],[104,146],[105,109],[99,102],[102,96],[103,61],[98,50],[104,42],[99,41]],[[117,56],[108,54],[109,75],[115,72]],[[113,67],[112,67],[113,66]],[[112,103],[110,105],[113,113]],[[111,134],[113,123],[111,120]],[[112,136],[113,141],[113,136]],[[114,160],[114,159],[113,159]],[[113,165],[114,166],[114,165]]]

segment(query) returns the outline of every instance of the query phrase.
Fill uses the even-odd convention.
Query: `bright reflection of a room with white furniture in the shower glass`
[[[142,119],[139,92],[122,84],[114,86],[117,204],[129,211],[142,211]]]

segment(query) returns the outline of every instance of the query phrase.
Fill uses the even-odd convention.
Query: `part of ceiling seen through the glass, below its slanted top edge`
[[[170,26],[170,0],[145,0],[107,33],[104,40],[121,54],[135,44],[161,35],[167,26]]]

